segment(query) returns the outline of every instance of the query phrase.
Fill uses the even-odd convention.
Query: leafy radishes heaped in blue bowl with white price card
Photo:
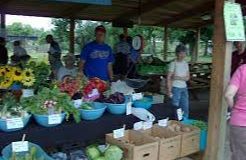
[[[70,115],[76,122],[80,121],[79,111],[74,108],[70,97],[58,88],[43,88],[35,96],[21,98],[21,103],[44,127],[57,126],[65,118],[68,120]]]

